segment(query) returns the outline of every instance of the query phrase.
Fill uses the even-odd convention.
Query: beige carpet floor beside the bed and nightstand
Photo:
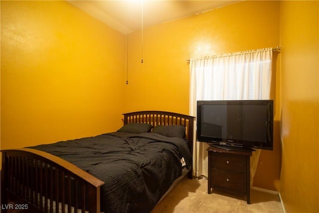
[[[151,213],[284,213],[279,195],[256,190],[246,196],[207,193],[207,180],[183,178]]]

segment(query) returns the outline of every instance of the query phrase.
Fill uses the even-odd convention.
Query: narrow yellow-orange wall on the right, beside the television
[[[319,1],[281,1],[280,194],[288,213],[319,212]]]

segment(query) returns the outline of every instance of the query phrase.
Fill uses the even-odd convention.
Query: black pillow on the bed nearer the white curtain
[[[185,137],[185,127],[181,125],[157,125],[153,128],[152,133],[157,133],[166,137]]]

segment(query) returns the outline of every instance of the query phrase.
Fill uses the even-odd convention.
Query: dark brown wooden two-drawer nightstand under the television
[[[250,156],[252,151],[227,151],[210,146],[208,194],[211,189],[247,196],[250,204]]]

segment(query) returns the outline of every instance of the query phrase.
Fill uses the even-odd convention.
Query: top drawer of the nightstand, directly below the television
[[[211,168],[246,173],[246,156],[213,153]]]

